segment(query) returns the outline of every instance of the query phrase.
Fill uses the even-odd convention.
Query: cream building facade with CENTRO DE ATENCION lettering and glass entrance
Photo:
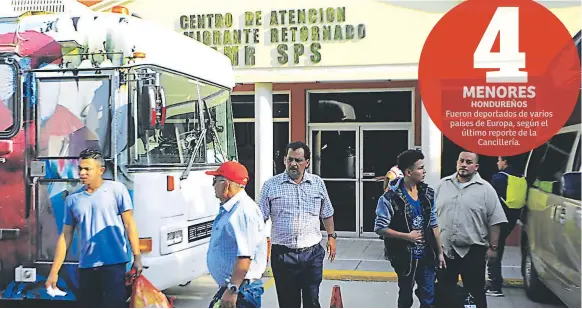
[[[153,0],[85,2],[94,10],[122,5],[231,58],[239,159],[253,197],[284,171],[285,145],[305,141],[338,234],[375,237],[378,179],[398,153],[422,149],[427,183],[442,176],[443,139],[423,108],[417,71],[451,1],[166,0],[163,9]],[[572,35],[579,31],[579,4],[551,10]]]

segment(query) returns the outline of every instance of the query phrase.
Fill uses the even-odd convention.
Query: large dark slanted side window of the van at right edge
[[[568,132],[552,137],[538,172],[537,185],[540,189],[549,193],[555,191],[555,188],[552,188],[553,184],[560,183],[566,172],[577,134]]]

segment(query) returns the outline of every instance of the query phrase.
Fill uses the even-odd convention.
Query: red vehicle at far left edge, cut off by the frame
[[[16,19],[4,20],[16,24]],[[35,31],[0,34],[0,291],[10,292],[9,283],[17,275],[32,277],[28,271],[18,274],[22,261],[33,261],[38,237],[37,216],[31,199],[30,158],[35,157],[35,120],[23,104],[23,70],[62,61],[60,45]],[[30,88],[29,88],[30,89]],[[26,111],[26,112],[25,112]],[[14,289],[18,287],[14,286]],[[26,291],[21,291],[26,292]],[[2,295],[4,296],[4,295]],[[2,297],[4,298],[4,297]]]

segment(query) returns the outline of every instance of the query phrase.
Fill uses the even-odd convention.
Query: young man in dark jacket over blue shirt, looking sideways
[[[424,155],[407,150],[398,156],[404,177],[390,182],[378,201],[374,231],[384,237],[388,259],[398,276],[398,307],[410,308],[414,282],[422,308],[434,302],[436,266],[445,267],[439,240],[434,191],[423,183]]]

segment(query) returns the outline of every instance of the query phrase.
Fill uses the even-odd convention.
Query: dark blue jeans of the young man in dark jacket
[[[416,281],[416,296],[420,308],[429,308],[434,302],[434,282],[436,269],[430,259],[413,259],[412,269],[408,276],[397,273],[398,276],[398,308],[412,307],[412,290]]]

